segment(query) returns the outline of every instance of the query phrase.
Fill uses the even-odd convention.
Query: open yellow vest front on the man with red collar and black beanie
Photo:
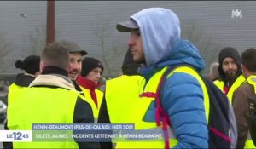
[[[94,103],[94,101],[92,100],[92,98],[90,96],[90,90],[89,89],[84,89],[84,87],[82,87],[82,86],[80,86],[80,88],[83,90],[86,100],[90,103],[90,106],[91,106],[92,112],[93,112],[94,123],[97,123],[100,108],[102,106],[103,93],[102,93],[101,90],[95,89],[95,93],[96,93],[96,97],[97,97],[97,103],[98,103],[98,106],[96,106],[96,104]]]

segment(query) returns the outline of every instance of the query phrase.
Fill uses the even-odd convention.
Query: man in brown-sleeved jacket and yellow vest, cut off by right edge
[[[242,73],[246,78],[246,81],[236,89],[232,102],[236,114],[238,132],[236,148],[256,148],[250,137],[246,119],[246,113],[249,112],[249,104],[247,100],[256,94],[256,49],[251,48],[245,50],[241,54],[241,64]]]

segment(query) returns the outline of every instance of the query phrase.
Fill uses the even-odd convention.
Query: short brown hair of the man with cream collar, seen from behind
[[[67,48],[60,42],[47,45],[41,54],[41,59],[47,66],[58,66],[65,70],[68,69],[69,53]]]

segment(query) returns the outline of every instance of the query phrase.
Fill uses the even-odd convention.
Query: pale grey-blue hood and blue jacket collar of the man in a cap
[[[195,45],[181,39],[179,19],[172,10],[143,9],[131,19],[137,22],[143,40],[146,63],[138,72],[146,79],[164,66],[187,64],[199,72],[204,68],[204,60]]]

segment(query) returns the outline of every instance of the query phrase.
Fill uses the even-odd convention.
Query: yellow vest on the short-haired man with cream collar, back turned
[[[79,92],[43,87],[15,89],[9,95],[9,130],[32,130],[32,123],[73,123]],[[86,113],[85,113],[86,114]],[[13,142],[14,148],[79,148],[67,141]]]

